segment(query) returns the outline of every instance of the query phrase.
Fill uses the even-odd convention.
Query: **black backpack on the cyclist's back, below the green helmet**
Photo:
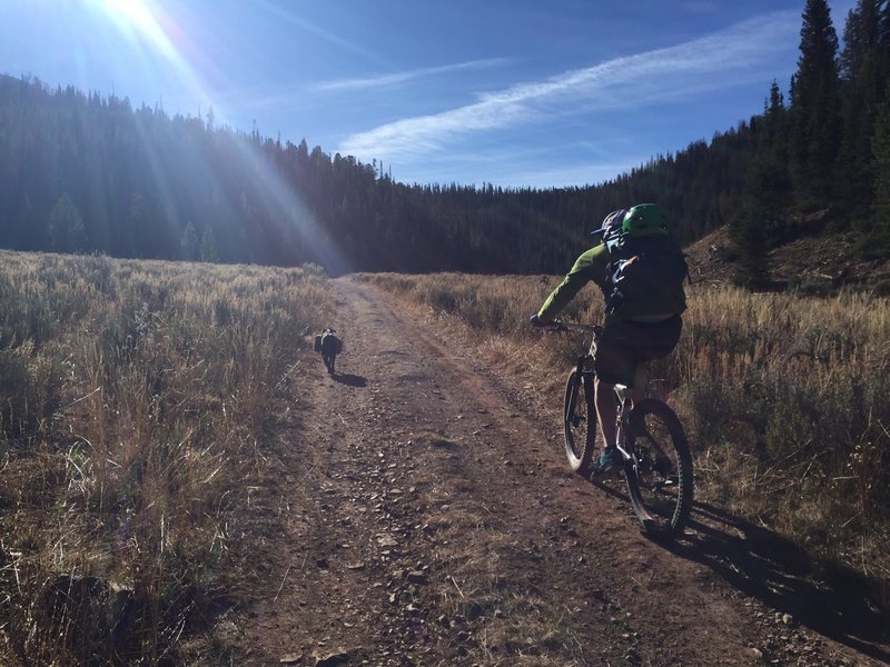
[[[670,233],[622,233],[606,242],[609,249],[607,315],[622,315],[639,303],[664,303],[664,312],[685,309],[683,280],[689,267]],[[657,310],[655,308],[655,310]]]

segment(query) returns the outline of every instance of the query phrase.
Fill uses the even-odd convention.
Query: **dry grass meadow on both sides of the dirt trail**
[[[554,277],[362,276],[561,400],[578,339],[527,326]],[[599,321],[586,288],[565,319]],[[309,331],[318,270],[0,251],[0,661],[182,664],[237,590],[236,510]],[[883,586],[890,301],[693,286],[652,376],[698,499]],[[253,481],[251,481],[253,480]]]

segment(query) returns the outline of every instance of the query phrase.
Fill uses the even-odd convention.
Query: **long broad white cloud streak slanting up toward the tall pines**
[[[469,132],[516,127],[573,110],[639,108],[728,88],[762,77],[799,27],[797,12],[768,13],[682,44],[518,83],[442,113],[397,120],[348,137],[339,152],[409,159]]]

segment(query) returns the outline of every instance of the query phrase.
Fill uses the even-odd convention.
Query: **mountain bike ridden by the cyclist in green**
[[[565,384],[563,419],[565,455],[573,470],[595,481],[597,437],[594,402],[593,358],[603,328],[556,320],[551,331],[577,330],[591,335],[590,349],[578,356]],[[651,395],[652,385],[646,380]],[[647,396],[631,406],[631,388],[615,385],[617,406],[616,445],[624,458],[621,470],[636,517],[645,532],[672,536],[680,532],[692,508],[694,481],[692,456],[683,426],[663,400]],[[630,409],[629,409],[630,408]]]

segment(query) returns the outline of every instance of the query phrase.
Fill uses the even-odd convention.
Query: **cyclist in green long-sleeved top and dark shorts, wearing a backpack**
[[[575,260],[563,281],[531,318],[535,326],[547,325],[590,281],[595,282],[603,291],[606,317],[594,358],[594,396],[600,432],[605,446],[594,475],[623,466],[621,452],[615,447],[617,409],[613,395],[614,385],[632,387],[632,399],[641,398],[645,385],[642,364],[665,357],[676,347],[683,327],[681,313],[686,308],[683,277],[678,280],[675,270],[671,277],[664,277],[649,290],[646,286],[642,289],[624,290],[624,295],[619,295],[616,299],[619,289],[615,283],[620,275],[616,273],[619,269],[615,265],[623,263],[621,252],[616,250],[619,239],[630,236],[634,229],[647,229],[650,235],[657,230],[655,236],[666,238],[664,212],[657,205],[643,203],[609,213],[600,229],[592,233],[597,238],[597,245]],[[670,243],[676,248],[679,261],[685,271],[682,252],[672,238]],[[647,279],[653,280],[651,276]],[[631,293],[632,298],[629,296]]]

